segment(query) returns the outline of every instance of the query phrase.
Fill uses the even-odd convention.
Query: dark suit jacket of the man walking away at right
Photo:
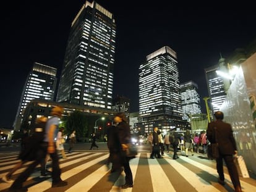
[[[213,138],[214,129],[216,141]],[[237,150],[232,127],[229,123],[225,123],[222,120],[208,123],[207,138],[211,143],[218,143],[220,153],[223,155],[232,155]]]

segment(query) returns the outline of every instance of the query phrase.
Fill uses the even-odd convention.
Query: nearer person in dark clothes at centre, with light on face
[[[119,112],[114,116],[114,122],[117,123],[118,138],[119,142],[121,143],[121,161],[122,166],[124,167],[124,173],[126,173],[126,183],[124,183],[121,188],[131,188],[134,186],[134,182],[129,161],[133,157],[126,156],[126,150],[128,149],[128,145],[131,142],[130,127],[127,124],[126,115],[123,112]]]

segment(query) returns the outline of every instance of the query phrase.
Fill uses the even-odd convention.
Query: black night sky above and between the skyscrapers
[[[1,6],[1,117],[11,127],[33,62],[61,73],[70,25],[85,1],[6,1]],[[139,65],[151,52],[177,52],[180,81],[195,81],[208,96],[204,69],[256,38],[256,12],[246,1],[98,1],[116,19],[114,94],[139,110]],[[214,2],[214,3],[213,3]],[[202,102],[204,109],[204,103]],[[203,111],[204,112],[204,111]]]

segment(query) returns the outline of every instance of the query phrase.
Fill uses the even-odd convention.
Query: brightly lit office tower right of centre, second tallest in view
[[[181,94],[177,55],[164,46],[139,67],[139,114],[145,133],[158,127],[181,127]]]

